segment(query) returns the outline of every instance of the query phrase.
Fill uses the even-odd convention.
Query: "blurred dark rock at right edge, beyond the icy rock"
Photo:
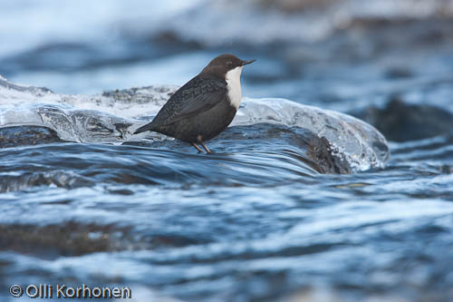
[[[421,140],[453,129],[453,114],[427,104],[409,104],[393,96],[383,109],[369,107],[352,115],[371,123],[390,141]]]

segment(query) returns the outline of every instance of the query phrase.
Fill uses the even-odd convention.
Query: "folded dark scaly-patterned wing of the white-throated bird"
[[[152,121],[155,126],[168,125],[205,112],[225,97],[226,82],[196,76],[174,93]]]

